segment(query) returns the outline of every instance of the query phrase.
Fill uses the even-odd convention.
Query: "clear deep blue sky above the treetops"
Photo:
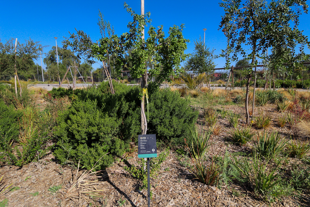
[[[226,47],[226,38],[219,28],[223,8],[219,7],[221,1],[184,1],[184,0],[145,0],[145,12],[151,12],[152,25],[163,25],[165,33],[173,25],[185,24],[184,37],[190,40],[185,53],[194,49],[193,40],[199,35],[203,38],[203,28],[206,28],[206,47],[215,48],[215,54]],[[140,14],[140,0],[129,0],[126,3],[136,13]],[[100,39],[98,22],[98,9],[114,26],[115,34],[122,34],[132,17],[124,9],[124,1],[2,1],[0,12],[0,38],[18,38],[18,41],[32,38],[48,45],[44,52],[55,46],[54,37],[58,37],[57,45],[62,47],[64,36],[68,37],[74,28],[89,34],[93,41]],[[309,1],[308,1],[309,4]],[[300,18],[299,29],[304,35],[310,36],[310,14],[303,14]],[[305,50],[310,53],[309,49]],[[45,56],[44,56],[45,57]],[[42,57],[42,58],[44,58]],[[40,59],[38,59],[41,65]],[[225,65],[224,58],[215,60],[217,68]],[[44,64],[44,63],[43,63]],[[98,64],[94,64],[96,69]],[[43,65],[43,68],[45,66]]]

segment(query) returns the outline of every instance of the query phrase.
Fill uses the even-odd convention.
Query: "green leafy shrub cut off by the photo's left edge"
[[[13,105],[7,106],[4,101],[0,101],[0,132],[3,137],[7,137],[3,142],[10,142],[11,139],[18,140],[19,120],[22,113],[15,109]]]

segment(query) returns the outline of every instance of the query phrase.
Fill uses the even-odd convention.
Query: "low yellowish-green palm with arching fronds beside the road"
[[[182,74],[179,78],[172,78],[169,86],[176,86],[179,88],[185,88],[186,90],[197,89],[202,83],[206,83],[208,80],[208,75],[206,73],[201,73],[196,77],[191,75]]]

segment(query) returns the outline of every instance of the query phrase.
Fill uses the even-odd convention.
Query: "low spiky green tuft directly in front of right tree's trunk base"
[[[243,127],[241,129],[234,128],[230,131],[230,140],[234,143],[246,144],[249,142],[255,133],[251,132],[251,127]]]

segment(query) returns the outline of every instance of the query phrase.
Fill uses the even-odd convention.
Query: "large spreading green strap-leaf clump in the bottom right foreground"
[[[242,161],[235,159],[235,166],[239,173],[247,178],[255,192],[262,194],[264,199],[268,200],[270,196],[277,196],[273,187],[282,181],[277,172],[281,162],[269,167],[271,158],[263,161],[258,153],[254,151],[252,157]]]

